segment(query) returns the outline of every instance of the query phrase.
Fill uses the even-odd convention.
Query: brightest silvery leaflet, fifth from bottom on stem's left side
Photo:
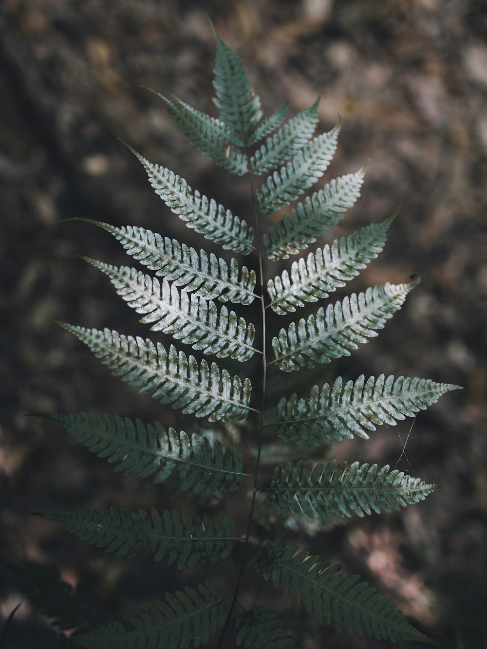
[[[179,293],[174,284],[145,275],[135,268],[116,267],[82,257],[110,277],[118,295],[136,310],[147,313],[140,322],[154,323],[152,331],[171,334],[175,339],[201,349],[205,354],[216,354],[219,358],[231,356],[246,361],[253,356],[252,343],[255,337],[253,324],[245,323],[236,313],[229,313],[226,306],[220,312],[211,300],[185,291]]]

